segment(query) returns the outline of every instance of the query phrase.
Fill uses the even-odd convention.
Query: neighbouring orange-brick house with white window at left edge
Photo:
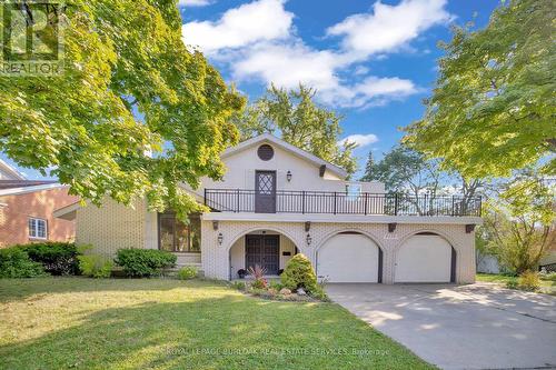
[[[26,180],[0,160],[0,248],[33,241],[73,240],[73,221],[57,219],[53,211],[78,201],[54,181]]]

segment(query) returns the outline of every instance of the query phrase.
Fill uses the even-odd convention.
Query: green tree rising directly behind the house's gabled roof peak
[[[353,142],[341,142],[340,120],[332,110],[318,106],[316,90],[299,84],[299,89],[286,90],[274,84],[259,100],[236,116],[235,122],[242,140],[269,132],[324,160],[344,168],[348,173],[357,170],[351,156]]]

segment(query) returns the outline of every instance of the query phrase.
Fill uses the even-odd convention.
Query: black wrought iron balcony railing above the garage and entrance
[[[205,204],[217,212],[480,217],[481,198],[305,190],[257,192],[245,189],[205,189]]]

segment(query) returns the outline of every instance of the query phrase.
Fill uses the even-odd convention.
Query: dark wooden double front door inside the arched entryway
[[[280,267],[279,236],[246,236],[246,268],[258,264],[267,270],[267,274],[278,274]]]

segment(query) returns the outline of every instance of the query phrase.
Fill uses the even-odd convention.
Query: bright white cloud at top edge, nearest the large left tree
[[[285,39],[290,36],[292,18],[282,0],[259,0],[226,11],[216,22],[186,23],[181,32],[187,44],[210,54],[225,48]]]

